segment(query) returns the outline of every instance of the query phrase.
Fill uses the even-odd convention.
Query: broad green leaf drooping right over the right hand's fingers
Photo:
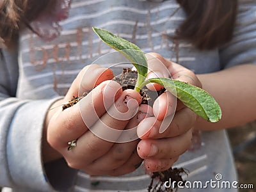
[[[219,104],[209,93],[197,86],[167,78],[148,79],[143,85],[148,83],[161,84],[185,106],[209,122],[218,122],[221,118]]]

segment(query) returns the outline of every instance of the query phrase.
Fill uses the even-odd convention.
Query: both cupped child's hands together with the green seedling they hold
[[[61,100],[68,102],[63,111],[53,110],[47,115],[47,141],[70,167],[90,175],[124,175],[136,170],[144,159],[145,169],[159,172],[154,178],[164,182],[161,172],[172,171],[173,163],[191,145],[197,115],[216,122],[221,117],[220,106],[201,89],[191,70],[156,53],[146,58],[136,45],[109,31],[94,29],[104,42],[122,52],[136,67],[135,88],[124,90],[111,80],[113,73],[109,69],[98,65],[85,67]],[[169,74],[174,80],[168,78]],[[168,92],[163,92],[150,107],[141,104],[141,90],[146,85],[149,89]],[[178,104],[176,97],[180,100]],[[69,108],[78,101],[78,105]],[[60,101],[52,108],[57,104]],[[141,140],[117,142],[123,131],[137,126],[135,134]],[[117,132],[111,134],[109,130]],[[52,157],[44,159],[49,161]],[[174,175],[180,178],[179,173],[178,170]]]

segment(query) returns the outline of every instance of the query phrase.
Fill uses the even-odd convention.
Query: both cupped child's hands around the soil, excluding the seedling
[[[156,53],[146,56],[150,68],[148,77],[168,77],[170,72],[173,79],[201,87],[200,81],[191,70]],[[82,81],[85,74],[86,81]],[[160,95],[152,108],[139,105],[141,96],[138,92],[123,92],[120,84],[111,79],[111,70],[98,65],[89,65],[81,70],[65,98],[54,103],[51,108],[67,103],[78,92],[92,91],[79,104],[65,111],[60,108],[49,111],[45,122],[48,147],[51,146],[60,153],[68,166],[84,170],[90,175],[124,175],[136,170],[142,161],[148,172],[167,170],[191,145],[193,126],[197,118],[195,113],[177,101],[172,118],[175,97],[169,92]],[[150,84],[148,88],[159,90],[161,86]],[[118,115],[109,113],[111,110],[113,113],[117,110],[118,113],[125,114],[125,120],[116,118]],[[167,125],[166,131],[159,133],[159,128],[166,120],[171,123]],[[115,143],[90,131],[106,126],[116,130],[138,126],[137,134],[140,139]],[[117,139],[118,136],[120,135],[113,137]],[[77,146],[67,150],[68,141],[77,138]],[[47,148],[47,145],[44,147]],[[52,156],[58,157],[56,154]],[[51,155],[48,153],[48,156]],[[52,158],[45,157],[48,160]]]

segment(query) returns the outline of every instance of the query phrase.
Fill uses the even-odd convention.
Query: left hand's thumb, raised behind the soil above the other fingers
[[[113,72],[109,68],[103,68],[96,64],[87,65],[79,72],[65,98],[70,100],[73,96],[81,96],[84,92],[90,92],[95,86],[103,81],[111,80],[113,77]]]

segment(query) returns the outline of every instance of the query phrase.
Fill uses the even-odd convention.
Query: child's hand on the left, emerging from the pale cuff
[[[80,84],[85,73],[86,81],[83,79]],[[65,104],[73,95],[77,96],[79,88],[80,93],[92,91],[78,104],[64,111],[51,111],[49,123],[46,124],[47,141],[51,147],[60,152],[70,167],[82,169],[90,175],[123,175],[136,170],[142,161],[136,152],[138,140],[129,143],[111,142],[120,133],[109,134],[108,127],[129,129],[136,127],[145,117],[134,116],[141,102],[140,94],[134,90],[122,92],[120,84],[108,80],[112,78],[109,69],[97,65],[85,67],[61,102]],[[97,86],[93,89],[95,84]],[[139,110],[147,112],[148,108],[140,106]],[[91,131],[88,131],[88,127]],[[92,131],[97,132],[97,136]],[[106,138],[111,141],[106,141]],[[68,141],[76,139],[76,147],[68,150]]]

